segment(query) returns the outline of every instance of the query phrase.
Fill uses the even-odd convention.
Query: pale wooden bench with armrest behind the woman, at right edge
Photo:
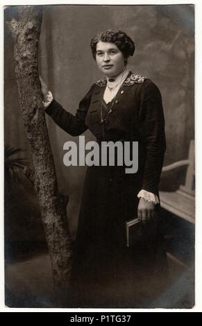
[[[172,169],[185,165],[187,165],[185,185],[181,185],[180,188],[174,192],[160,191],[160,203],[164,209],[167,209],[167,211],[172,214],[184,218],[190,223],[195,223],[194,140],[190,141],[188,159],[164,166],[162,172],[171,171]]]

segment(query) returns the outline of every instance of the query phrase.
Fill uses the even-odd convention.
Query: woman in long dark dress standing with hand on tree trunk
[[[148,78],[128,71],[135,45],[126,33],[96,35],[91,49],[105,78],[92,85],[76,116],[51,97],[41,79],[45,111],[70,135],[89,128],[99,145],[138,141],[138,171],[127,174],[124,164],[87,168],[71,271],[72,305],[152,307],[167,273],[158,216],[165,153],[160,91]],[[135,216],[147,237],[128,248],[125,222]],[[153,226],[155,235],[148,232]]]

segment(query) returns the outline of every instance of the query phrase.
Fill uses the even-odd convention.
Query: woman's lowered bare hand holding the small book
[[[137,207],[137,217],[140,218],[142,223],[151,222],[155,217],[155,204],[140,198],[138,207]]]

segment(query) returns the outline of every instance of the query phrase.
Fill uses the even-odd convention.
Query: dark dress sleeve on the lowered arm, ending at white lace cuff
[[[142,189],[158,194],[160,174],[166,150],[165,118],[158,87],[146,80],[140,90],[140,139],[145,162]]]

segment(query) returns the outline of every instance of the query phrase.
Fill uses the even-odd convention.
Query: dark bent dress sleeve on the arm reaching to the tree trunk
[[[69,135],[81,135],[83,132],[85,132],[85,130],[87,130],[87,126],[85,126],[85,117],[90,106],[94,87],[95,84],[90,87],[89,92],[87,92],[79,103],[76,115],[67,112],[55,99],[51,101],[48,108],[45,109],[45,112],[49,114],[53,121],[55,121],[55,123],[62,128],[62,130],[69,133]]]

